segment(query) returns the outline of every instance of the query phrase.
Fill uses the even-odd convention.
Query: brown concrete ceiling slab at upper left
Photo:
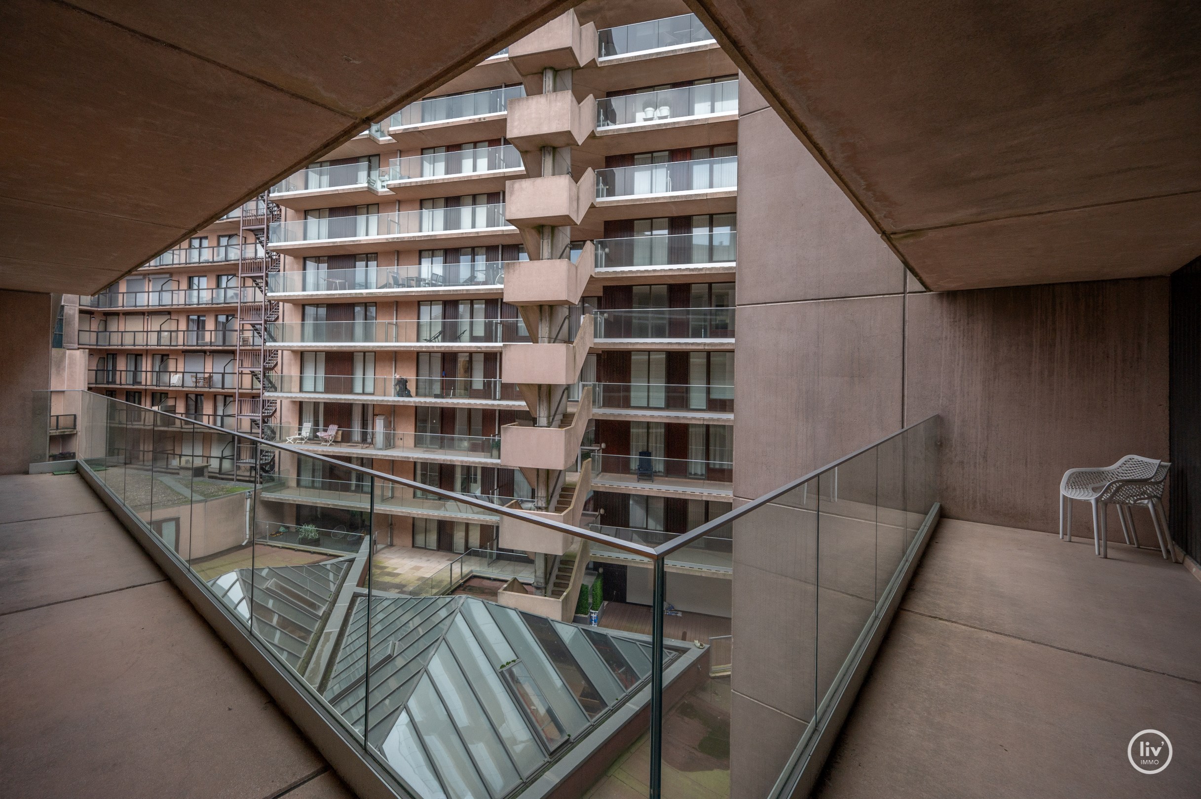
[[[91,294],[570,0],[6,0],[0,288]]]

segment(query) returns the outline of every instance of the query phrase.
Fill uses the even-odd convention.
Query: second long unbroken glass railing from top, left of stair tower
[[[369,266],[365,269],[273,272],[267,276],[267,286],[268,290],[273,294],[504,286],[504,266],[516,262],[490,260],[464,262],[459,264],[423,264],[418,266]]]

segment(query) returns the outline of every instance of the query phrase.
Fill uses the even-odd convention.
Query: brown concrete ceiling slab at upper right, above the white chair
[[[1201,4],[687,2],[928,288],[1201,254]]]

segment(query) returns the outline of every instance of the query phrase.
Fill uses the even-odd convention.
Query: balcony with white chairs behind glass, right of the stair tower
[[[705,146],[737,139],[739,82],[597,100],[596,136],[605,154]]]

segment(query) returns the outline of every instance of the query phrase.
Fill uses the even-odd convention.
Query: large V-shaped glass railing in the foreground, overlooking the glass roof
[[[35,431],[48,434],[49,392],[38,395]],[[569,786],[573,795],[621,794],[637,780],[683,799],[700,793],[699,777],[705,795],[728,797],[740,773],[781,799],[815,781],[938,519],[938,421],[659,543],[656,531],[556,524],[89,392],[76,463],[163,569],[197,587],[191,601],[219,632],[257,644],[233,650],[288,675],[273,687],[288,699],[279,703],[306,698],[335,733],[328,745],[372,762],[381,795],[432,799],[449,783],[462,787],[455,795],[507,798],[533,779],[563,787],[560,773],[587,763],[597,782]],[[491,549],[502,517],[566,534],[573,552],[597,547],[585,557],[603,581],[608,563],[623,564],[650,613],[579,591],[599,626],[560,621],[563,602],[520,569],[446,581],[466,595],[419,587],[458,569],[460,553],[432,548],[443,535]],[[431,548],[411,546],[419,534]],[[482,567],[494,557],[471,555]],[[729,588],[698,593],[705,577],[754,585],[759,600],[715,614]],[[576,595],[563,596],[569,617]],[[748,701],[731,704],[735,669]],[[795,723],[761,734],[784,716]],[[615,733],[628,743],[604,749]]]

